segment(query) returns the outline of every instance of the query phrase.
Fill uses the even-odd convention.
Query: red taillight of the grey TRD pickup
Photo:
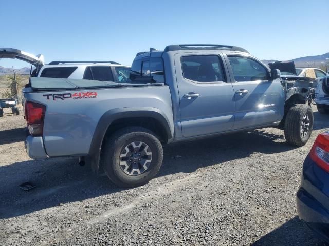
[[[46,106],[32,101],[25,102],[25,118],[32,136],[42,136]]]

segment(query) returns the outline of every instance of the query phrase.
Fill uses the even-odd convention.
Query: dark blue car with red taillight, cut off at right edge
[[[329,132],[320,134],[303,165],[299,218],[329,242]]]

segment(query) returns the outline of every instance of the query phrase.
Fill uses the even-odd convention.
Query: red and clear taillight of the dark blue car
[[[309,156],[319,167],[329,172],[329,132],[317,137]]]

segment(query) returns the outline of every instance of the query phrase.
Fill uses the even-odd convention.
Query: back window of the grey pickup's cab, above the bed
[[[151,57],[144,60],[136,60],[132,64],[130,79],[149,81],[151,83],[165,83],[165,71],[160,57]]]

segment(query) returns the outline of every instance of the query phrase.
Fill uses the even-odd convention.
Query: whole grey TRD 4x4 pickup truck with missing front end
[[[305,98],[287,97],[280,71],[240,47],[151,48],[136,55],[127,82],[31,77],[23,91],[29,156],[79,156],[134,187],[159,171],[162,144],[279,127],[302,146],[312,133]]]

